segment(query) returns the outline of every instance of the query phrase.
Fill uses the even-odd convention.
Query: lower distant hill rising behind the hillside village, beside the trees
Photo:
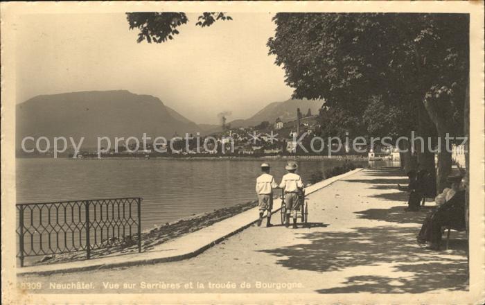
[[[249,127],[258,125],[263,121],[274,123],[280,118],[283,123],[294,121],[297,118],[297,108],[300,108],[303,116],[311,110],[312,114],[318,114],[318,110],[324,101],[293,100],[274,102],[251,116],[249,119],[239,119],[229,122],[231,127]]]

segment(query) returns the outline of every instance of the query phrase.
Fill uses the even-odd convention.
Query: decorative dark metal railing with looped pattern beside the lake
[[[134,241],[141,252],[142,198],[111,198],[16,204],[17,257],[63,254]]]

